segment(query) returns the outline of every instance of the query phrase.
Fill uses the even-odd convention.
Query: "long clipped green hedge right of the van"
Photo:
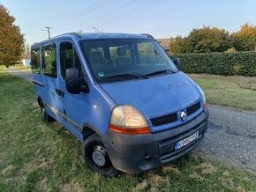
[[[256,52],[180,54],[181,68],[186,73],[256,76]]]

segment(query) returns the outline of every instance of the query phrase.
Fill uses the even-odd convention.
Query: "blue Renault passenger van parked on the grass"
[[[94,171],[145,172],[204,137],[204,92],[151,35],[65,33],[31,51],[44,120],[60,122],[83,143]]]

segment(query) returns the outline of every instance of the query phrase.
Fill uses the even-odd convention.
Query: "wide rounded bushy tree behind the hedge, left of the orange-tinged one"
[[[188,53],[224,52],[230,48],[230,33],[217,27],[192,29],[187,36]]]

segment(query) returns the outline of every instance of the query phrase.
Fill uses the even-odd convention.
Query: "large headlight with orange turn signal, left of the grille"
[[[129,105],[120,105],[113,109],[109,129],[124,134],[149,133],[144,116]]]

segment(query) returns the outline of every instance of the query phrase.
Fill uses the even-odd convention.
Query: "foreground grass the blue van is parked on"
[[[0,68],[0,191],[256,191],[254,174],[195,154],[146,174],[104,178],[83,163],[79,141],[41,121],[33,87]]]

